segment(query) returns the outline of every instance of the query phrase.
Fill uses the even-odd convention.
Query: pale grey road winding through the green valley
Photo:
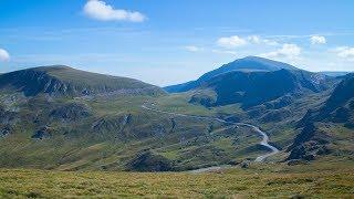
[[[250,128],[253,128],[254,132],[257,132],[260,136],[262,136],[262,140],[260,142],[260,145],[264,146],[264,147],[268,147],[271,151],[270,153],[267,153],[264,155],[261,155],[259,157],[257,157],[254,159],[254,161],[258,161],[258,163],[261,163],[261,161],[264,161],[268,157],[270,156],[273,156],[275,154],[279,153],[279,149],[275,148],[274,146],[270,145],[269,144],[269,137],[268,135],[262,132],[259,127],[257,126],[253,126],[251,124],[246,124],[246,123],[232,123],[232,122],[227,122],[225,119],[221,119],[221,118],[217,118],[217,117],[207,117],[207,116],[196,116],[196,115],[186,115],[186,114],[179,114],[179,113],[173,113],[173,112],[165,112],[165,111],[160,111],[160,109],[157,109],[157,108],[152,108],[152,107],[148,107],[146,105],[142,105],[142,108],[144,109],[147,109],[147,111],[152,111],[152,112],[156,112],[156,113],[163,113],[163,114],[168,114],[168,115],[174,115],[174,116],[180,116],[180,117],[189,117],[189,118],[197,118],[197,119],[210,119],[210,121],[217,121],[217,122],[220,122],[220,123],[225,123],[225,124],[229,124],[229,125],[236,125],[236,126],[248,126]],[[215,168],[215,169],[220,169],[220,167],[210,167],[210,168]],[[207,168],[204,168],[204,169],[198,169],[198,170],[201,170],[201,171],[205,171],[205,169]],[[214,169],[212,169],[214,170]]]

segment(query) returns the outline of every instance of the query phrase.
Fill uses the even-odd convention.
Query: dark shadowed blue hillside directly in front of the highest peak
[[[317,93],[327,88],[327,77],[306,71],[235,71],[218,75],[198,90],[214,91],[214,105],[241,103],[244,107],[277,100],[287,94]],[[198,92],[197,92],[198,93]]]

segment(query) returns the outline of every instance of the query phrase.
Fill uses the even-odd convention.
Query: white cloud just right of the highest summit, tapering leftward
[[[285,43],[282,45],[281,49],[261,54],[262,56],[267,57],[288,57],[288,59],[294,59],[299,56],[301,53],[301,48],[299,48],[296,44],[289,44]]]

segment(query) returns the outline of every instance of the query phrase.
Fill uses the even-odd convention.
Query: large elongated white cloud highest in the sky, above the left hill
[[[140,12],[114,9],[101,0],[88,0],[84,7],[84,13],[90,18],[102,21],[143,22],[146,20],[146,17]]]

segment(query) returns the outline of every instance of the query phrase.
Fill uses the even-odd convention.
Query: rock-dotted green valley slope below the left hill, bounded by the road
[[[189,106],[187,113],[190,114],[202,115],[198,109],[202,109],[205,114],[209,112],[169,97],[175,96],[59,98],[50,103],[45,97],[35,97],[29,103],[20,103],[17,106],[20,107],[22,121],[15,125],[13,134],[0,138],[0,166],[60,170],[123,170],[136,153],[150,148],[154,153],[169,158],[179,169],[190,169],[256,158],[264,153],[254,147],[260,138],[248,128],[227,129],[217,122],[175,117],[144,111],[140,107],[146,101],[162,100],[176,103],[170,105],[173,111],[178,109],[180,103],[180,107]],[[46,115],[51,108],[67,103],[86,104],[93,115],[79,122],[49,121]],[[38,112],[39,109],[41,112]],[[184,113],[184,109],[178,111]],[[98,119],[114,122],[126,115],[132,115],[132,123],[122,132],[118,130],[121,123],[110,129],[92,129]],[[40,124],[32,123],[37,116]],[[173,132],[170,119],[176,123]],[[43,140],[31,139],[34,132],[43,125],[54,129],[53,136]],[[69,134],[63,135],[64,132]]]

